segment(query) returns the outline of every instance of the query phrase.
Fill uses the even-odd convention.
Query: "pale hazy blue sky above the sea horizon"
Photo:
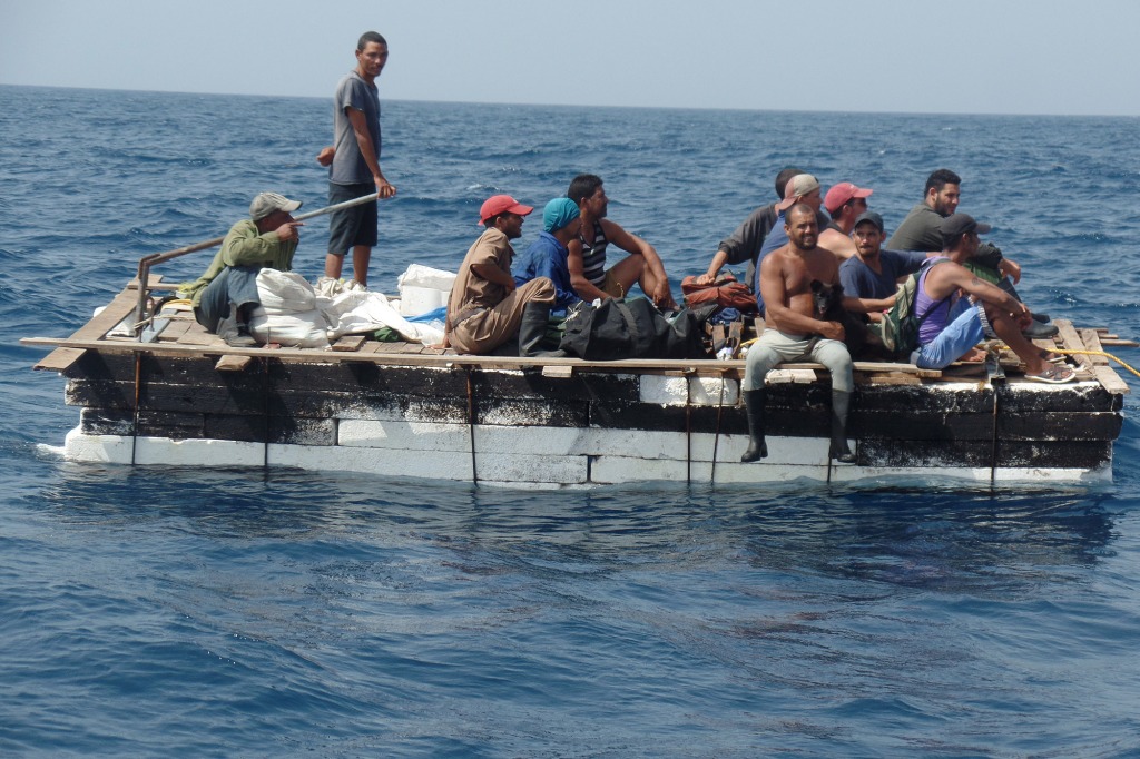
[[[396,100],[1140,115],[1137,0],[0,0],[0,84],[332,97],[367,30]]]

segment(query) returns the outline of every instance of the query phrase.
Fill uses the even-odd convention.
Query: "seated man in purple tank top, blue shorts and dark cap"
[[[1021,334],[1033,318],[1029,309],[962,266],[978,252],[978,235],[987,231],[990,225],[978,223],[964,213],[942,220],[942,258],[921,275],[914,296],[920,327],[913,362],[923,369],[942,369],[962,357],[980,358],[977,344],[997,337],[1025,364],[1026,379],[1072,382],[1075,374],[1059,362],[1060,357],[1037,348]]]

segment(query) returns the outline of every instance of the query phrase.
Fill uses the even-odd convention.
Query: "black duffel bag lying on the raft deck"
[[[570,310],[559,348],[589,361],[628,358],[707,358],[705,321],[716,310],[683,309],[666,318],[648,300],[606,299],[596,308],[579,303]]]

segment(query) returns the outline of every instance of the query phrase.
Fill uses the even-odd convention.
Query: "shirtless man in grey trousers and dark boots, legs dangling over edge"
[[[831,373],[831,449],[829,456],[845,464],[855,462],[847,447],[847,414],[850,409],[852,357],[844,345],[844,327],[838,321],[815,317],[812,280],[839,281],[839,263],[831,251],[819,247],[820,226],[815,210],[797,203],[785,214],[788,244],[760,263],[760,292],[768,304],[764,334],[748,351],[742,383],[750,443],[741,462],[768,455],[764,440],[764,379],[777,364],[811,357]]]

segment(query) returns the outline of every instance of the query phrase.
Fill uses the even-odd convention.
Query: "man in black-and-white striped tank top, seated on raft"
[[[578,204],[581,232],[570,240],[570,284],[584,301],[625,297],[634,284],[663,310],[675,310],[677,303],[669,289],[661,256],[652,245],[605,218],[610,198],[605,196],[601,177],[578,174],[570,182],[567,197]],[[613,243],[629,255],[605,268],[605,250]]]

